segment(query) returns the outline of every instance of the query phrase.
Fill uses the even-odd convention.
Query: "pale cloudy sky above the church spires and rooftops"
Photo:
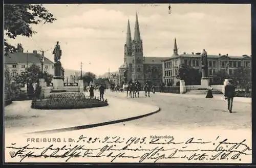
[[[59,41],[65,69],[91,71],[96,75],[117,71],[123,64],[127,20],[132,39],[136,12],[144,57],[171,57],[174,38],[179,53],[251,55],[251,10],[249,4],[46,4],[57,19],[32,25],[31,38],[8,41],[28,50],[52,50]]]

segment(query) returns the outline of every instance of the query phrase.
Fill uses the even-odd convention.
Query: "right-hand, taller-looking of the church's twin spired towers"
[[[136,12],[136,21],[134,29],[134,39],[132,41],[132,80],[138,79],[139,82],[144,82],[144,67],[143,67],[143,47],[140,38],[140,29],[138,21],[138,13]]]

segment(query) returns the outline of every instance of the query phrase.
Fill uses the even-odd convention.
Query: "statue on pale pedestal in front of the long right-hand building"
[[[201,54],[202,61],[202,78],[201,78],[201,86],[208,87],[209,86],[209,78],[208,78],[208,61],[207,61],[207,52],[203,49]]]

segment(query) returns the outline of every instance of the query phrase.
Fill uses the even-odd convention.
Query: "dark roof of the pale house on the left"
[[[32,64],[40,64],[40,58],[42,57],[39,53],[28,53],[28,63]],[[4,57],[5,64],[19,64],[19,63],[27,63],[27,52],[14,52],[8,53],[6,57]],[[54,62],[50,61],[45,57],[44,64],[54,64]]]

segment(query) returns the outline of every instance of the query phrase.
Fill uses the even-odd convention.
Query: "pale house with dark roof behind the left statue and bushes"
[[[18,50],[18,52],[15,53],[8,53],[4,58],[4,63],[9,69],[11,82],[14,82],[13,78],[15,76],[25,72],[26,68],[29,68],[33,64],[39,66],[41,69],[41,58],[42,55],[35,50],[33,53],[24,53],[23,50]],[[43,64],[43,70],[54,75],[54,63],[48,58],[44,58],[45,62]]]

